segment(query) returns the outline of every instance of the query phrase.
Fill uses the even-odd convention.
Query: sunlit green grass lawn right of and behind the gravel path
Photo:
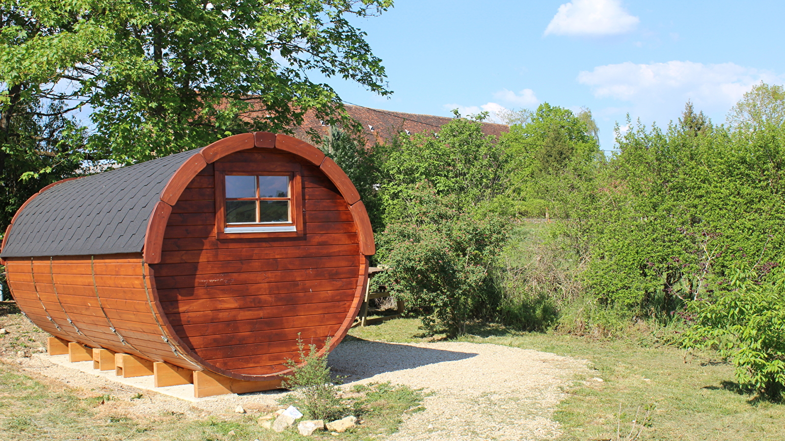
[[[350,334],[388,342],[430,340],[419,326],[416,319],[391,320],[355,328]],[[732,366],[714,360],[711,353],[687,354],[670,346],[647,345],[645,340],[520,333],[498,326],[476,326],[469,334],[461,340],[588,360],[596,371],[589,378],[579,378],[586,381],[576,381],[568,399],[557,408],[555,418],[564,428],[562,439],[615,440],[617,427],[623,435],[629,434],[637,410],[641,421],[646,407],[653,409],[651,421],[640,439],[785,439],[785,404],[760,401],[740,391]]]

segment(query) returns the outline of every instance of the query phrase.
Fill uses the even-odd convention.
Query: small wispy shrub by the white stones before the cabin
[[[298,339],[298,354],[304,363],[287,360],[286,365],[292,372],[281,385],[294,393],[283,398],[281,404],[297,407],[307,418],[332,421],[344,417],[347,408],[341,402],[341,391],[327,366],[330,338],[324,347],[323,354],[319,354],[316,345],[308,345],[306,351],[305,344]]]

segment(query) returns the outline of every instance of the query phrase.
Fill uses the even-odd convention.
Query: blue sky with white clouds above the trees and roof
[[[687,99],[715,122],[758,81],[785,82],[785,2],[396,0],[355,20],[392,97],[329,80],[361,106],[451,116],[589,107],[604,149],[626,114],[666,125]]]

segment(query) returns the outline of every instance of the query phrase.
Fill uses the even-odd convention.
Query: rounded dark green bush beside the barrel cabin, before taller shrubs
[[[374,281],[403,299],[409,311],[423,314],[430,331],[455,337],[466,332],[470,319],[495,315],[498,299],[490,270],[508,223],[459,211],[433,188],[422,187],[418,215],[391,222],[378,235],[390,269]]]

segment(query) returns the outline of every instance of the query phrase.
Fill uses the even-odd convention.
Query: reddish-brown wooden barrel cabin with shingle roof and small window
[[[160,369],[206,396],[276,388],[298,338],[337,345],[373,254],[341,168],[256,132],[46,186],[14,216],[0,259],[20,309],[54,336],[50,352],[92,351],[96,366],[141,366],[156,383]]]

